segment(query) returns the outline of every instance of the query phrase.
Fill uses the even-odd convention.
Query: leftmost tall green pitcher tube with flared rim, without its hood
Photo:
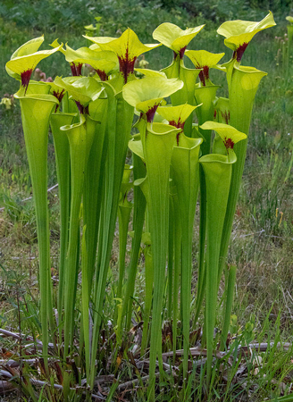
[[[21,120],[29,160],[34,203],[37,217],[40,315],[43,335],[43,354],[46,371],[48,348],[48,319],[52,322],[51,311],[51,271],[50,271],[50,232],[47,209],[47,141],[49,119],[58,101],[51,95],[14,95],[21,102]],[[51,316],[51,318],[50,318]]]

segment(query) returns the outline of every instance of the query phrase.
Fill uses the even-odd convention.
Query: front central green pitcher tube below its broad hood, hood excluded
[[[154,264],[154,302],[151,329],[149,398],[155,399],[155,361],[162,368],[162,306],[169,231],[169,178],[172,148],[180,131],[163,123],[145,123],[139,127],[147,165],[147,177],[135,181],[147,199],[149,229]]]

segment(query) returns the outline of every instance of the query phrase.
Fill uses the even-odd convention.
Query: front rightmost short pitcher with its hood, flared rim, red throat
[[[207,384],[209,384],[212,373],[213,328],[219,287],[219,256],[222,230],[227,212],[232,165],[236,163],[236,155],[233,149],[239,141],[246,139],[247,136],[228,124],[215,121],[205,121],[201,128],[203,130],[214,130],[222,138],[226,148],[226,155],[204,155],[199,160],[205,172],[206,188],[205,334],[207,344]]]

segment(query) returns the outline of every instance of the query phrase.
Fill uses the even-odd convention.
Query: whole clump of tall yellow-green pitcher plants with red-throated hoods
[[[220,64],[223,53],[187,49],[189,42],[202,34],[204,25],[182,30],[169,22],[155,29],[156,43],[151,45],[142,44],[131,29],[120,38],[85,37],[92,44],[77,50],[55,40],[50,50],[40,51],[44,38],[35,38],[17,49],[6,64],[8,74],[21,84],[14,98],[21,103],[37,214],[46,375],[50,373],[47,345],[54,342],[64,361],[64,400],[71,400],[74,379],[66,370],[66,361],[70,356],[77,358],[77,339],[79,358],[84,357],[85,362],[82,373],[90,389],[95,385],[117,217],[116,353],[130,330],[142,252],[146,292],[141,356],[147,353],[149,357],[149,400],[155,400],[157,366],[161,379],[164,375],[164,320],[172,322],[174,359],[177,348],[183,347],[181,373],[186,379],[189,333],[204,314],[202,347],[206,348],[209,385],[223,272],[224,314],[218,319],[222,322],[220,347],[227,347],[236,272],[236,266],[227,265],[227,252],[255,93],[266,75],[242,66],[241,61],[255,34],[273,25],[272,13],[260,22],[224,22],[218,33],[231,50],[230,62],[224,64]],[[170,49],[171,65],[161,71],[136,68],[138,56],[157,46]],[[30,80],[38,63],[56,52],[64,55],[71,75],[56,77],[53,82]],[[185,66],[186,57],[193,68]],[[88,65],[95,75],[83,75]],[[211,69],[226,74],[229,98],[217,95],[220,87],[213,84]],[[57,292],[50,277],[46,193],[49,127],[60,197]],[[129,150],[131,166],[125,164]],[[199,253],[195,262],[192,247],[197,193]],[[130,263],[126,264],[128,234],[131,250]],[[77,297],[80,272],[81,296]],[[195,276],[197,289],[191,287]]]

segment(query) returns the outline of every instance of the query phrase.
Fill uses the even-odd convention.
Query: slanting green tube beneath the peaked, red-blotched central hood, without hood
[[[100,243],[100,269],[98,281],[95,286],[95,322],[92,342],[92,356],[96,354],[98,331],[101,322],[101,313],[105,296],[105,282],[111,258],[113,235],[119,205],[121,180],[124,170],[127,145],[130,139],[130,130],[133,120],[134,108],[126,103],[121,92],[116,93],[111,82],[105,81],[105,91],[108,97],[108,119],[106,124],[106,140],[108,152],[105,160],[105,211],[103,214],[103,239]],[[95,382],[95,359],[91,362],[90,386]]]

